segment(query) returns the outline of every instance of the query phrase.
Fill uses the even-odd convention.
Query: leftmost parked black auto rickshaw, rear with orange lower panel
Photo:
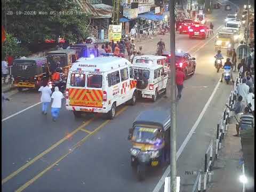
[[[23,88],[38,88],[42,85],[43,78],[49,78],[49,70],[46,58],[23,58],[15,59],[12,72],[13,85],[19,91]]]

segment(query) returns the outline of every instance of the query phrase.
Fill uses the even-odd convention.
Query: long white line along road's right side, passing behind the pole
[[[212,99],[213,99],[213,97],[214,97],[214,95],[215,95],[215,93],[216,93],[216,91],[217,91],[219,85],[220,85],[220,82],[218,82],[217,85],[215,86],[215,88],[214,88],[214,90],[213,90],[213,92],[212,92],[212,94],[211,94],[209,100],[206,102],[206,104],[205,104],[203,110],[201,111],[200,115],[198,116],[198,118],[197,118],[195,124],[193,125],[193,127],[192,127],[192,129],[189,131],[189,133],[188,133],[186,139],[183,141],[182,145],[180,146],[179,150],[177,151],[177,158],[176,158],[176,161],[178,160],[178,158],[179,158],[179,156],[181,155],[182,151],[183,151],[184,148],[186,147],[186,145],[187,145],[189,139],[191,138],[191,136],[192,136],[193,133],[195,132],[195,130],[196,130],[198,124],[201,122],[201,119],[203,118],[203,116],[204,116],[204,114],[205,114],[205,111],[206,111],[207,108],[209,107],[209,105],[210,105],[210,103],[211,103],[211,101],[212,101]],[[162,186],[163,186],[163,184],[164,184],[164,181],[165,181],[165,178],[168,177],[169,174],[170,174],[170,165],[166,168],[164,174],[162,175],[161,179],[160,179],[159,182],[157,183],[157,185],[156,185],[155,189],[153,190],[153,192],[158,192],[158,191],[162,188]]]

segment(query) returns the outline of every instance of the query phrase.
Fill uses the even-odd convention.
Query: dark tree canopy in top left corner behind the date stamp
[[[82,13],[76,1],[5,0],[2,1],[2,23],[5,23],[5,13],[7,33],[22,43],[43,42],[46,38],[57,40],[59,36],[77,42],[88,37],[85,29],[89,16]]]

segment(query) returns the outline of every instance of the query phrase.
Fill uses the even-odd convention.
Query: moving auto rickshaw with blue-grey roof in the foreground
[[[147,166],[158,166],[170,157],[170,113],[147,110],[133,122],[128,140],[132,142],[131,166],[137,168],[139,180],[145,179]]]

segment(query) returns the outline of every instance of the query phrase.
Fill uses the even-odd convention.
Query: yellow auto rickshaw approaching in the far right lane
[[[234,49],[235,40],[233,30],[219,31],[215,39],[215,51],[227,49],[227,56],[230,57],[231,51]]]

